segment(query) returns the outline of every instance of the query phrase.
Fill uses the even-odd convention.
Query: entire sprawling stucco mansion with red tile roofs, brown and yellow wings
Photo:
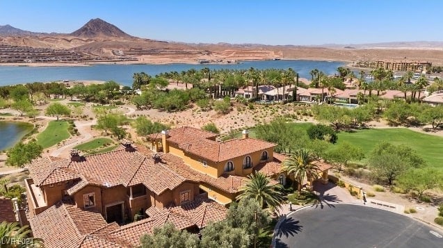
[[[252,172],[285,183],[276,144],[247,131],[224,142],[216,136],[185,126],[149,135],[150,149],[123,141],[102,154],[35,160],[25,181],[35,237],[45,247],[132,247],[166,222],[198,232],[223,220]],[[329,167],[320,167],[326,182]]]

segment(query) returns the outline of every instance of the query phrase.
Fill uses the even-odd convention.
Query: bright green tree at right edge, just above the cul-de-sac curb
[[[405,190],[414,190],[418,193],[419,199],[426,190],[443,188],[443,174],[433,167],[414,169],[410,168],[396,180],[396,183]]]

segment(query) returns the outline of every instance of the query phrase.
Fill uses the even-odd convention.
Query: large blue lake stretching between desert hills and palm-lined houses
[[[132,85],[132,76],[136,72],[145,72],[152,76],[161,72],[181,72],[188,69],[289,69],[298,72],[302,78],[311,78],[309,72],[319,69],[325,74],[337,73],[337,67],[345,65],[339,61],[320,60],[257,60],[243,61],[240,64],[166,64],[166,65],[92,65],[72,67],[22,67],[0,66],[0,86],[17,83],[47,82],[60,80],[113,80],[122,85]]]

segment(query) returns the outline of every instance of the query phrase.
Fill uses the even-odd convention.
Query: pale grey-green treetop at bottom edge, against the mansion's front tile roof
[[[188,231],[177,230],[170,222],[161,227],[154,228],[152,235],[145,234],[140,238],[143,248],[198,248],[200,240],[197,235]]]

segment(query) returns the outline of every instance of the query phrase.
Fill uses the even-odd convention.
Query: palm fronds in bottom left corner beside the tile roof
[[[17,222],[0,223],[0,244],[1,247],[42,247],[42,240],[38,238],[29,238],[31,229],[28,226],[20,227]],[[20,242],[22,240],[32,241],[33,244]]]

